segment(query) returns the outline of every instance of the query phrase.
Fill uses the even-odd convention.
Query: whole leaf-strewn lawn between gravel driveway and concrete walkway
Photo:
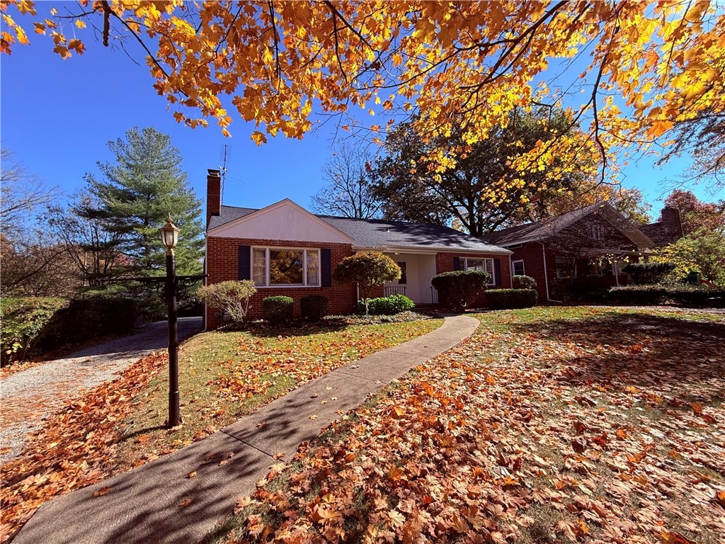
[[[184,421],[175,429],[165,429],[167,357],[143,358],[67,403],[30,437],[22,456],[0,467],[0,542],[51,498],[202,440],[302,382],[441,324],[334,322],[196,335],[179,352]]]

